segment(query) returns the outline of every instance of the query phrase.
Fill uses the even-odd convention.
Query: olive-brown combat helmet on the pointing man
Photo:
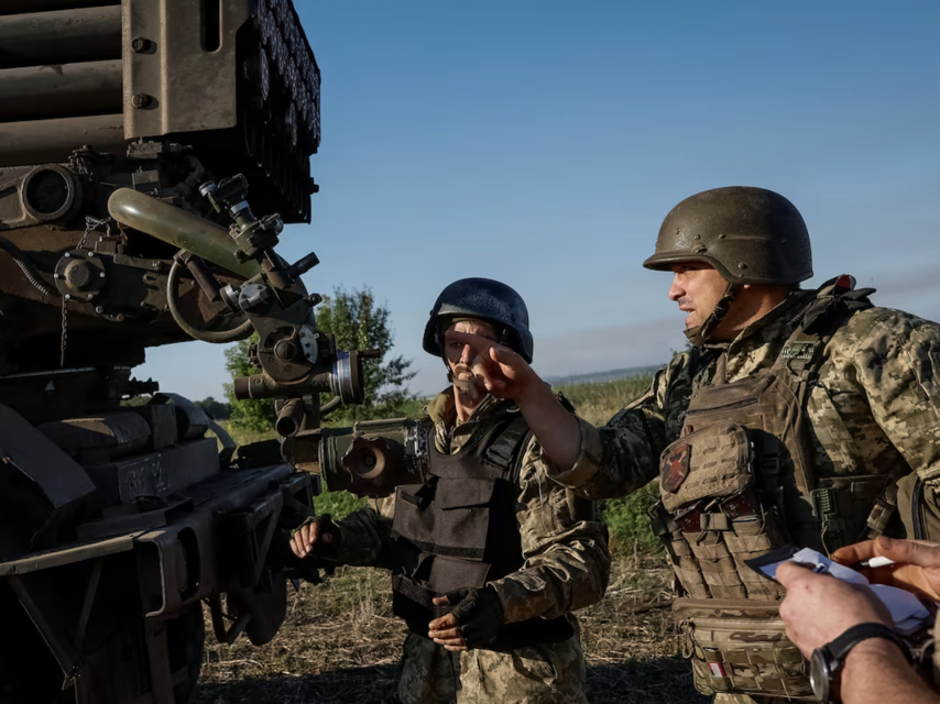
[[[704,190],[673,208],[646,268],[704,262],[730,284],[791,285],[812,276],[809,233],[799,210],[773,190]]]

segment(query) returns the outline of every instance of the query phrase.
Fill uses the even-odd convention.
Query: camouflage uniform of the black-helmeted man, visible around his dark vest
[[[488,397],[466,422],[458,424],[453,392],[431,402],[427,413],[440,452],[455,453],[488,431],[507,413],[507,402]],[[392,569],[389,541],[394,497],[373,499],[342,521],[337,561]],[[507,623],[567,615],[575,637],[510,652],[485,649],[450,652],[433,640],[409,632],[404,647],[398,696],[417,702],[582,703],[584,657],[576,617],[570,613],[603,596],[610,575],[603,525],[582,516],[575,496],[548,479],[542,450],[531,440],[523,458],[516,518],[525,564],[491,582],[502,601]]]

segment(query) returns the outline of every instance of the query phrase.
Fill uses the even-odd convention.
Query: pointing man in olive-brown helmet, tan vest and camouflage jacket
[[[779,618],[784,588],[745,560],[903,535],[898,514],[909,537],[930,537],[940,327],[874,307],[850,276],[800,289],[806,224],[761,188],[680,202],[644,266],[673,273],[691,346],[603,428],[565,413],[511,350],[461,339],[484,353],[491,393],[516,402],[557,481],[605,498],[659,479],[653,526],[696,688],[722,702],[812,700]]]

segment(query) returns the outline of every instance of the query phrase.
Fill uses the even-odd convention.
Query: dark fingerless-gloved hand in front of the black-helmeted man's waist
[[[447,650],[490,645],[505,623],[500,595],[492,587],[462,588],[434,600],[435,606],[456,604],[453,610],[428,624],[428,638]]]

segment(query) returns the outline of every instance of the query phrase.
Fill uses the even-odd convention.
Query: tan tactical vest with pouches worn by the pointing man
[[[704,694],[811,700],[808,666],[778,613],[785,590],[745,560],[788,543],[834,550],[864,537],[872,516],[884,527],[873,506],[889,476],[861,466],[849,476],[813,472],[805,416],[823,349],[849,316],[871,307],[870,290],[843,278],[802,310],[769,370],[729,383],[719,358],[662,454],[654,530],[676,573],[674,610]]]

